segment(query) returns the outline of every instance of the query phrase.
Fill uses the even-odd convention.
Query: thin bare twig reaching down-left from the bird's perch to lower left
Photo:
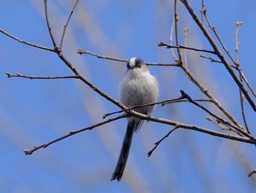
[[[94,124],[94,125],[92,125],[92,126],[88,126],[88,127],[86,127],[86,128],[80,129],[80,130],[76,130],[76,131],[69,132],[69,134],[64,135],[64,136],[62,136],[62,137],[59,137],[59,138],[57,138],[56,140],[52,140],[52,141],[50,141],[49,143],[45,143],[45,144],[42,144],[42,145],[39,145],[39,146],[34,146],[33,149],[31,149],[31,150],[26,149],[26,150],[24,150],[23,152],[24,152],[26,155],[31,155],[31,154],[34,153],[34,151],[37,151],[37,150],[39,150],[40,148],[47,148],[49,145],[52,145],[53,143],[59,142],[60,140],[64,140],[64,139],[67,138],[67,137],[70,137],[70,136],[72,136],[72,135],[78,134],[78,133],[80,133],[80,132],[84,132],[84,131],[86,131],[86,130],[94,129],[95,127],[98,127],[98,126],[101,126],[101,125],[104,125],[104,124],[108,124],[108,123],[110,123],[110,122],[112,122],[112,121],[116,121],[116,120],[118,120],[118,119],[120,119],[120,118],[125,118],[125,117],[127,117],[127,115],[124,114],[124,115],[118,116],[118,117],[116,117],[116,118],[110,118],[110,119],[108,119],[107,121],[102,121],[102,122],[100,122],[100,123],[98,123],[98,124]]]

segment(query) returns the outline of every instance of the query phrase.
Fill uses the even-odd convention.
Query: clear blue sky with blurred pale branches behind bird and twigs
[[[243,22],[238,35],[239,60],[255,88],[256,2],[205,3],[208,18],[233,56],[236,22]],[[199,15],[200,1],[190,4]],[[0,9],[1,29],[27,42],[53,47],[43,1],[4,0]],[[58,42],[71,9],[69,1],[49,0],[50,23]],[[188,45],[211,50],[180,2],[178,15],[180,43],[184,44],[184,28],[189,27]],[[160,40],[168,43],[172,22],[173,1],[80,1],[69,23],[63,52],[95,86],[118,99],[118,82],[124,75],[125,63],[80,56],[76,53],[78,48],[105,56],[138,56],[147,62],[173,63],[170,50],[157,47]],[[1,192],[254,192],[256,178],[246,176],[256,167],[254,146],[179,129],[148,158],[146,153],[171,129],[152,122],[145,123],[135,135],[119,183],[111,182],[110,178],[127,124],[124,119],[25,156],[24,149],[96,124],[102,121],[102,115],[118,107],[79,80],[7,78],[5,72],[31,76],[72,75],[72,72],[55,53],[20,44],[4,34],[0,34],[0,42]],[[234,81],[225,67],[200,58],[200,54],[187,52],[189,69],[243,124]],[[181,69],[150,69],[159,81],[159,101],[179,96],[179,89],[195,99],[204,97]],[[245,108],[255,135],[255,113],[246,102]],[[206,113],[187,103],[157,106],[153,116],[221,131],[206,121]]]

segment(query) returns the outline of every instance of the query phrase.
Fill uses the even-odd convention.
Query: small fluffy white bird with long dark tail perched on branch
[[[157,102],[159,95],[157,79],[151,75],[147,65],[141,58],[133,57],[127,61],[127,71],[118,87],[120,102],[127,107]],[[150,116],[153,109],[154,105],[148,105],[136,107],[134,110]],[[127,164],[133,134],[138,132],[143,125],[143,120],[134,116],[128,117],[127,121],[127,131],[111,181],[121,180]]]

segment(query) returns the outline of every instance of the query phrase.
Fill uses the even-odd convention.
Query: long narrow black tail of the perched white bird
[[[127,124],[127,132],[124,136],[124,142],[121,148],[121,153],[119,155],[119,159],[116,164],[116,170],[112,175],[111,181],[115,179],[117,181],[120,181],[124,173],[124,167],[127,164],[127,159],[129,156],[129,148],[131,147],[131,144],[132,144],[132,136],[135,132],[135,123],[136,123],[135,120],[132,120]]]

